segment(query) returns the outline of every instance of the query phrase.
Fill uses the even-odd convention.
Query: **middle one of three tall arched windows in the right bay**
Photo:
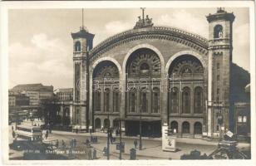
[[[182,113],[190,114],[190,88],[185,87],[182,90]]]

